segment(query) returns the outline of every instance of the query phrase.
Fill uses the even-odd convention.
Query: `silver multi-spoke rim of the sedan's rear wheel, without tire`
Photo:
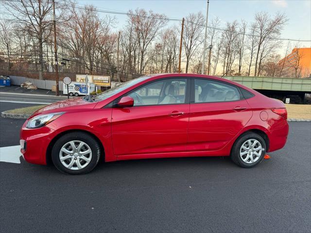
[[[256,139],[248,139],[240,148],[240,158],[246,164],[256,163],[262,154],[261,143]]]

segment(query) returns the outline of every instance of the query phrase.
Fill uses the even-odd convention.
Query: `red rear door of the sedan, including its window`
[[[252,110],[234,85],[204,78],[191,82],[187,150],[219,150],[243,129]]]

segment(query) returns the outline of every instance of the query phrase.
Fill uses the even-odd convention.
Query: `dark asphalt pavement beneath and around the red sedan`
[[[0,121],[0,147],[18,145],[24,120]],[[310,232],[310,139],[311,122],[290,122],[285,148],[251,169],[148,159],[70,176],[0,162],[0,232]]]

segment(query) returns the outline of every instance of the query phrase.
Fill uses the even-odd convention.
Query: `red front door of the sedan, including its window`
[[[186,150],[189,123],[187,78],[165,78],[127,93],[133,107],[112,110],[112,143],[116,156]]]

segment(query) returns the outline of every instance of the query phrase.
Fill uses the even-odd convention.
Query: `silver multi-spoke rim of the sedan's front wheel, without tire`
[[[85,168],[92,159],[91,148],[82,141],[67,142],[59,151],[59,160],[63,166],[70,170]]]

